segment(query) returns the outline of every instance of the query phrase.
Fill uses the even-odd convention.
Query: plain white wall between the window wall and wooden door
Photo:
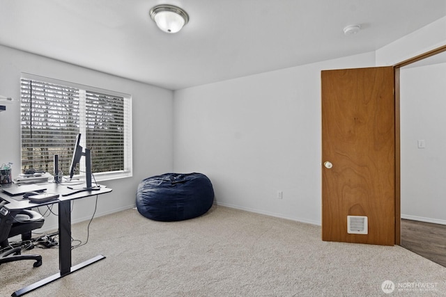
[[[369,53],[176,91],[174,169],[208,175],[219,204],[320,225],[321,70],[374,63]]]

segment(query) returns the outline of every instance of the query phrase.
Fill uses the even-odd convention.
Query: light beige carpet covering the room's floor
[[[86,239],[87,223],[73,238]],[[58,271],[57,249],[33,251],[43,266],[0,266],[1,296]],[[321,227],[221,206],[171,223],[136,209],[95,218],[72,264],[99,254],[107,259],[27,296],[446,296],[446,268],[400,246],[325,242]]]

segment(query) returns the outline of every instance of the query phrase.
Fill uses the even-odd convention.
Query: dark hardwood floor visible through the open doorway
[[[402,219],[401,246],[446,267],[446,225]]]

